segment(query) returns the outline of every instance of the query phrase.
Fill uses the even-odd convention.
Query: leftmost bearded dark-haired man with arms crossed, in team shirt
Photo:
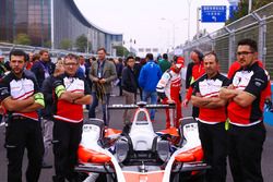
[[[9,160],[8,181],[22,181],[22,162],[27,149],[26,181],[39,179],[44,144],[37,109],[45,106],[44,95],[38,92],[36,80],[24,71],[26,54],[23,50],[10,52],[11,73],[0,83],[0,99],[8,112],[5,148]]]

